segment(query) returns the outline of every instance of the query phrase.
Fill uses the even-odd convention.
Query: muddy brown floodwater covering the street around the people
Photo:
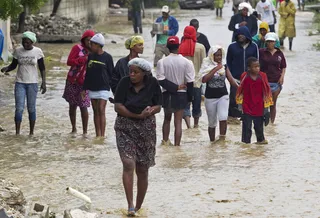
[[[210,10],[173,15],[180,24],[178,36],[182,36],[192,18],[197,18],[199,31],[208,36],[211,45],[227,48],[232,35],[227,28],[231,13],[229,4],[222,20],[217,20],[215,11]],[[310,12],[297,12],[294,51],[284,50],[288,68],[278,100],[276,125],[265,131],[268,145],[241,144],[240,125],[229,125],[225,144],[211,145],[203,106],[200,128],[187,130],[184,125],[182,146],[162,147],[163,112],[157,115],[156,166],[150,170],[141,216],[320,217],[320,52],[312,47],[319,36],[308,36],[312,16]],[[152,61],[154,45],[149,26],[144,27],[146,44],[142,57]],[[127,30],[125,34],[121,29],[125,39],[132,28],[123,28]],[[128,52],[120,40],[110,44],[107,39],[106,50],[115,61]],[[94,138],[91,108],[89,138],[80,133],[70,135],[68,104],[61,98],[66,72],[49,70],[55,66],[54,60],[68,54],[71,45],[38,46],[45,53],[50,51],[52,66],[47,66],[48,91],[38,95],[34,137],[27,136],[26,111],[22,135],[14,135],[14,73],[10,78],[0,78],[12,81],[0,92],[0,124],[7,129],[0,133],[0,177],[18,185],[28,201],[49,204],[57,213],[83,204],[65,194],[65,188],[70,186],[91,197],[92,211],[103,217],[123,217],[127,203],[113,130],[113,105],[107,105],[104,141]],[[288,47],[287,40],[285,46]],[[81,132],[80,111],[77,121]]]

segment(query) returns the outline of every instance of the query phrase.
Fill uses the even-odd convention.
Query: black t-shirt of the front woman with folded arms
[[[115,103],[123,104],[130,112],[141,114],[148,106],[162,105],[162,92],[156,78],[146,76],[145,86],[137,93],[130,77],[121,79],[115,94]]]

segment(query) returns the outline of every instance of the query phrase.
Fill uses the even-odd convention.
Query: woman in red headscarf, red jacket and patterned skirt
[[[83,82],[86,74],[86,63],[90,51],[90,39],[94,36],[92,30],[87,30],[81,37],[81,43],[72,47],[68,57],[67,65],[70,70],[67,76],[63,98],[69,102],[69,117],[72,125],[71,133],[77,132],[76,117],[77,107],[80,108],[82,118],[83,134],[87,134],[88,129],[88,107],[90,99],[88,91],[83,92]]]

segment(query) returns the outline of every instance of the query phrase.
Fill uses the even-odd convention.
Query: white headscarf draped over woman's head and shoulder
[[[200,68],[200,75],[201,75],[201,79],[202,77],[204,77],[205,75],[207,75],[208,73],[210,73],[210,71],[215,68],[216,66],[218,66],[218,63],[214,61],[214,54],[218,51],[221,50],[222,51],[222,65],[225,65],[225,51],[223,49],[222,46],[220,45],[215,45],[212,46],[208,52],[208,57],[204,58],[202,61],[202,65]],[[221,68],[219,71],[216,72],[215,75],[224,75],[225,74],[225,68]]]

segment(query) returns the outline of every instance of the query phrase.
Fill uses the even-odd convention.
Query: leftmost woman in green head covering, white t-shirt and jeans
[[[6,73],[18,67],[14,88],[16,107],[14,120],[16,135],[20,134],[25,99],[27,99],[29,113],[29,135],[34,134],[36,123],[36,99],[38,93],[38,69],[42,78],[40,91],[42,94],[47,91],[44,55],[40,48],[34,46],[34,43],[36,42],[37,38],[35,33],[30,31],[24,32],[22,34],[22,47],[15,49],[11,64],[1,69],[1,72]]]

